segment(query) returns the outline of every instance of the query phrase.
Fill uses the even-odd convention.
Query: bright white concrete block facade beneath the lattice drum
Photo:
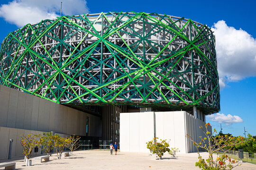
[[[120,113],[120,151],[149,152],[146,142],[158,137],[171,139],[170,147],[181,153],[195,152],[186,134],[199,141],[198,136],[204,136],[199,127],[204,124],[186,111]]]

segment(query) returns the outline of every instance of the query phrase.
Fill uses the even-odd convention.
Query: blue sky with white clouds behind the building
[[[191,18],[212,27],[220,76],[220,112],[208,117],[219,132],[256,135],[255,0],[1,0],[0,42],[11,31],[59,14],[109,11],[156,12]],[[212,120],[212,121],[210,121]],[[237,122],[237,123],[236,123]]]

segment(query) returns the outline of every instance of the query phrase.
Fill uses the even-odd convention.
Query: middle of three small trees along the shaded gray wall
[[[49,155],[50,151],[54,148],[52,132],[44,132],[43,136],[40,137],[39,144],[43,145],[44,151]]]

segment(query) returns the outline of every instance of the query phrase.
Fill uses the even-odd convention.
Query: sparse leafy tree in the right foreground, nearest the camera
[[[220,136],[216,135],[213,136],[213,134],[217,134],[216,129],[213,130],[213,133],[211,134],[209,131],[210,123],[205,124],[205,129],[203,129],[202,126],[200,128],[202,129],[203,133],[205,134],[205,137],[199,136],[200,143],[196,143],[191,136],[187,135],[187,137],[193,142],[193,144],[196,146],[197,151],[198,148],[205,149],[209,153],[208,159],[203,159],[198,151],[198,159],[199,161],[196,162],[196,166],[201,168],[202,170],[231,170],[240,164],[238,163],[238,160],[231,160],[231,158],[227,155],[227,152],[230,151],[232,148],[239,144],[243,144],[246,142],[245,138],[242,136],[233,137],[233,136]],[[213,160],[213,153],[218,152],[222,150],[224,153],[217,157],[217,159]]]

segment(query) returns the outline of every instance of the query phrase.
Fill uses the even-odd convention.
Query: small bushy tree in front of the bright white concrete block
[[[152,141],[146,143],[146,148],[150,150],[151,153],[157,154],[159,160],[162,158],[165,152],[169,152],[169,143],[166,142],[167,140],[162,140],[158,142],[158,137],[153,138]]]

